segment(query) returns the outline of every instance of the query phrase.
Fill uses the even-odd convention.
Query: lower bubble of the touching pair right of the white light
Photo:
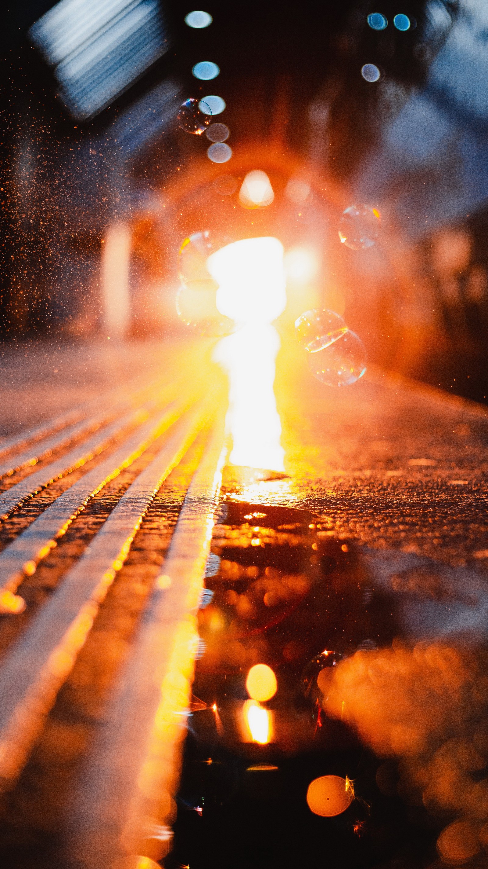
[[[348,329],[334,342],[309,352],[309,368],[327,386],[350,386],[366,371],[367,354],[361,338]]]

